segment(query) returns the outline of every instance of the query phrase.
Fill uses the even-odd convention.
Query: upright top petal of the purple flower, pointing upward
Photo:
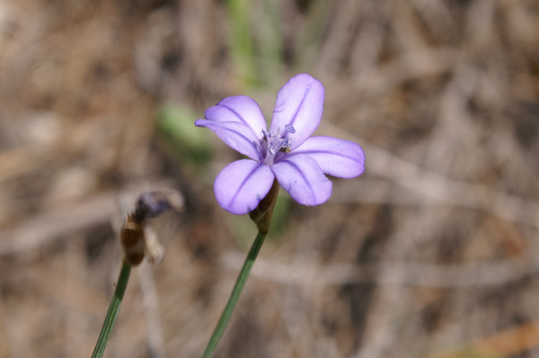
[[[323,112],[324,90],[320,81],[307,74],[290,78],[278,91],[270,130],[288,131],[290,148],[301,145],[318,128]],[[289,128],[289,127],[288,127]]]

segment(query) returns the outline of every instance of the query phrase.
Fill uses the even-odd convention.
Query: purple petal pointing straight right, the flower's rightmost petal
[[[358,144],[333,137],[311,137],[287,157],[307,155],[318,163],[323,173],[340,178],[354,178],[365,170],[365,153]]]

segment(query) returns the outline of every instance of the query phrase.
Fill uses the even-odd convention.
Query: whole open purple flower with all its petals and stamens
[[[254,210],[275,178],[297,202],[319,205],[331,196],[324,175],[353,178],[365,170],[358,144],[311,137],[323,112],[323,85],[307,74],[292,77],[278,91],[270,130],[261,108],[243,95],[208,108],[195,125],[213,130],[230,148],[251,159],[226,166],[216,177],[216,200],[233,214]]]

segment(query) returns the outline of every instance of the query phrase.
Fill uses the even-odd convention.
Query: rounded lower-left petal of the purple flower
[[[269,166],[250,159],[232,162],[216,177],[216,200],[223,209],[233,214],[246,214],[254,210],[270,192],[274,178]]]

